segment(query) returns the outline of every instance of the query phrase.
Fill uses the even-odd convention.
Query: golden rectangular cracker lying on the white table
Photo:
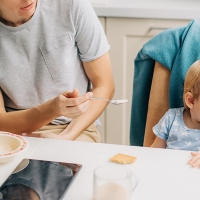
[[[115,156],[113,156],[112,158],[109,159],[109,161],[111,162],[116,162],[119,164],[131,164],[133,162],[136,161],[136,157],[134,156],[129,156],[129,155],[125,155],[125,154],[116,154]]]

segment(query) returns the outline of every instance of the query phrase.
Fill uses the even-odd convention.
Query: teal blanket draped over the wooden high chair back
[[[147,42],[135,59],[130,144],[142,146],[155,61],[171,71],[170,108],[183,106],[183,84],[190,65],[200,59],[200,20],[168,29]]]

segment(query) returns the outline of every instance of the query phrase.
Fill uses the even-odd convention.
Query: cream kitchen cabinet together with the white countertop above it
[[[129,144],[134,59],[142,46],[169,28],[200,18],[199,0],[89,0],[111,46],[116,91],[113,99],[129,102],[108,105],[101,115],[102,142]]]

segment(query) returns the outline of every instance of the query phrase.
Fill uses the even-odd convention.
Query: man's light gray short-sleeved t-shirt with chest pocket
[[[109,48],[88,0],[38,0],[28,22],[19,27],[0,22],[0,88],[6,110],[28,109],[74,88],[84,94],[90,83],[82,61],[95,60]]]

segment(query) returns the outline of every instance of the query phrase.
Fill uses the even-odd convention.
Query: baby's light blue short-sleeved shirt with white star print
[[[183,121],[184,108],[169,109],[153,127],[154,134],[166,140],[167,149],[200,150],[200,130],[188,128]]]

